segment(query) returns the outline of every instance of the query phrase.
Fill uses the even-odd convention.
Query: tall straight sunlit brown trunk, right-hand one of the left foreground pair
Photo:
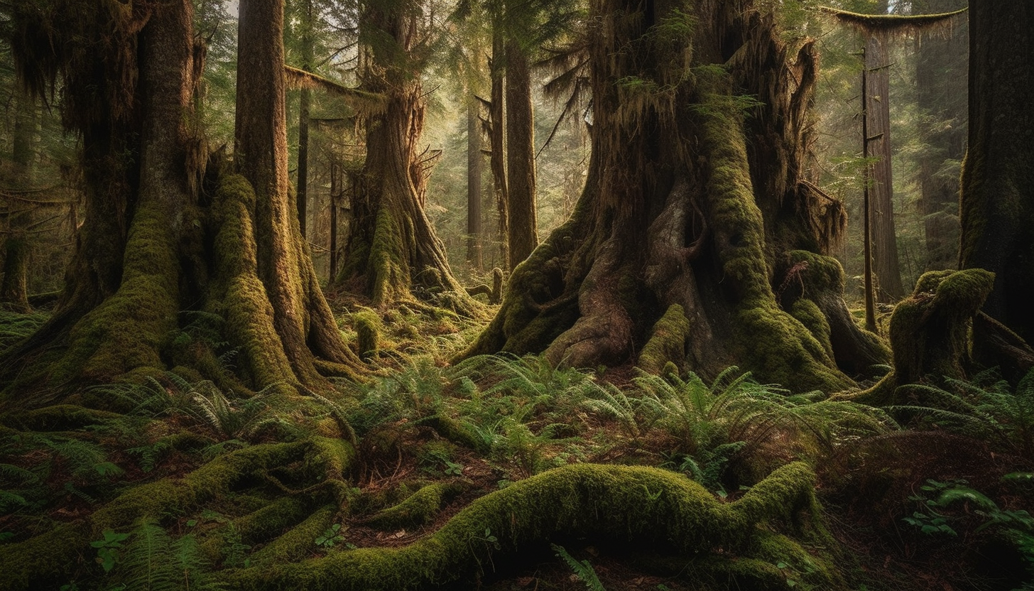
[[[338,363],[354,356],[320,289],[288,190],[282,31],[283,0],[241,3],[235,162],[255,194],[256,273],[290,362],[286,375],[323,384],[313,353]],[[279,354],[273,357],[252,359],[255,371],[284,372]],[[267,362],[268,367],[258,366]]]

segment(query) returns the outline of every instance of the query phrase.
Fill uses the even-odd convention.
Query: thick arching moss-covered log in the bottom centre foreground
[[[482,497],[433,535],[400,549],[360,549],[301,564],[227,573],[240,589],[414,589],[475,573],[499,552],[564,534],[668,546],[682,554],[746,549],[755,525],[814,503],[814,474],[780,468],[734,503],[653,468],[572,465]],[[494,539],[490,539],[491,536]]]

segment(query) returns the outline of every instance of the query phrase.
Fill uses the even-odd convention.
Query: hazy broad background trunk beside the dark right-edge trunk
[[[913,1],[913,13],[942,13],[966,7],[966,0]],[[966,153],[966,42],[968,23],[947,37],[922,35],[916,49],[916,97],[919,134],[925,149],[919,158],[919,207],[923,216],[926,270],[959,264],[957,162]]]

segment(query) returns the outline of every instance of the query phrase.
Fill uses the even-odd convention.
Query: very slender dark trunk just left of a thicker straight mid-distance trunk
[[[506,101],[504,92],[504,62],[506,52],[504,51],[501,25],[496,23],[492,30],[492,59],[488,67],[491,71],[492,90],[488,120],[490,123],[489,143],[491,148],[490,165],[492,169],[492,186],[495,190],[495,208],[498,214],[498,242],[499,242],[499,267],[505,269],[510,266],[510,198],[507,190],[507,165],[506,165],[506,112],[504,102]]]

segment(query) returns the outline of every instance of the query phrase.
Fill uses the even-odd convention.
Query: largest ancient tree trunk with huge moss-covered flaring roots
[[[685,332],[683,370],[736,363],[795,390],[850,386],[844,372],[855,367],[839,366],[827,334],[777,297],[805,278],[809,262],[789,264],[788,254],[826,252],[844,223],[802,170],[812,43],[782,41],[772,16],[749,0],[595,0],[589,23],[585,188],[568,223],[518,266],[467,354],[620,363],[677,304],[689,329],[665,332]]]

